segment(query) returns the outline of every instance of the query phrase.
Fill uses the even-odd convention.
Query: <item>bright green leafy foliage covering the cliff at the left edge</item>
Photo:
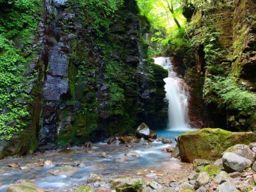
[[[28,123],[24,119],[29,111],[22,100],[30,97],[21,93],[27,88],[22,72],[35,51],[31,36],[38,26],[39,4],[39,0],[0,1],[0,139],[9,140]]]

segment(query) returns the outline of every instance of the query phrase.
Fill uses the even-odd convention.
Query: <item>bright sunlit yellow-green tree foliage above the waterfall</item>
[[[188,42],[184,38],[186,19],[182,15],[181,3],[180,0],[137,0],[140,14],[147,17],[154,31],[156,31],[151,38],[152,52],[164,52],[168,45],[171,49],[187,45]],[[173,4],[173,14],[168,9],[168,4]],[[178,20],[181,28],[177,27],[174,19]]]

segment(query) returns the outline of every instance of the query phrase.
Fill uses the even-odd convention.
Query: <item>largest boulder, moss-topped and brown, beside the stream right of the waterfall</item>
[[[220,159],[227,148],[236,144],[248,145],[255,140],[255,132],[230,132],[205,128],[181,134],[177,141],[182,161],[192,163],[195,159]]]

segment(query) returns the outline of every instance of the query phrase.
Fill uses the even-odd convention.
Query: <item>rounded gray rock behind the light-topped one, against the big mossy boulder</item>
[[[228,148],[227,150],[225,150],[225,152],[232,152],[234,154],[237,154],[237,156],[244,157],[251,161],[253,161],[254,158],[253,152],[252,150],[250,150],[250,147],[248,147],[248,145],[237,144]]]

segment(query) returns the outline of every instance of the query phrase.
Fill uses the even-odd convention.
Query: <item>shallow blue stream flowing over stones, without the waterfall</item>
[[[18,180],[28,180],[51,191],[63,191],[83,184],[92,173],[108,179],[138,175],[154,179],[157,177],[154,172],[161,172],[165,166],[169,170],[179,170],[182,167],[180,162],[171,163],[170,153],[161,150],[174,146],[174,138],[180,133],[182,132],[157,131],[158,137],[172,138],[171,144],[154,141],[145,145],[141,141],[129,144],[131,147],[128,148],[125,144],[94,143],[90,150],[72,147],[72,153],[69,154],[50,150],[42,154],[38,152],[19,158],[3,159],[0,161],[0,191],[6,191],[8,185]],[[126,157],[124,154],[127,151],[137,152],[140,157]],[[102,157],[102,152],[106,152],[106,157]],[[46,160],[51,160],[52,164],[43,166]],[[8,167],[8,164],[19,164],[19,168]]]

